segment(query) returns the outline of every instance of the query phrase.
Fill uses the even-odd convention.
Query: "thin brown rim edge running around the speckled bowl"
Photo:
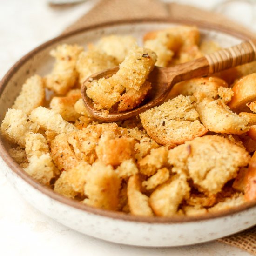
[[[240,31],[237,31],[236,28],[233,30],[230,30],[228,27],[225,27],[221,25],[211,24],[208,22],[202,22],[202,21],[196,21],[192,19],[173,19],[173,18],[159,18],[159,19],[129,19],[129,20],[117,20],[117,21],[109,21],[104,22],[96,25],[90,25],[85,26],[79,29],[76,29],[74,31],[61,34],[60,36],[57,36],[51,40],[46,41],[45,43],[41,44],[38,47],[35,47],[32,51],[25,54],[22,58],[20,58],[19,61],[17,61],[4,75],[2,80],[0,81],[0,96],[2,95],[5,87],[7,86],[8,82],[12,78],[13,74],[31,57],[34,56],[34,54],[37,54],[44,48],[58,42],[59,40],[63,40],[65,38],[72,37],[76,34],[81,34],[87,31],[91,31],[97,28],[104,28],[104,27],[115,27],[116,25],[136,25],[136,24],[143,24],[143,23],[166,23],[166,24],[177,24],[177,25],[195,25],[198,26],[201,29],[208,29],[208,30],[214,30],[216,32],[221,32],[224,34],[228,34],[231,36],[234,36],[238,39],[242,40],[248,40],[251,39],[251,35],[247,34],[246,32],[241,33]],[[50,189],[36,180],[34,180],[32,177],[30,177],[20,166],[17,164],[13,158],[9,155],[7,148],[4,145],[4,139],[0,135],[0,156],[3,159],[3,161],[7,164],[7,166],[21,179],[23,179],[25,182],[27,182],[29,185],[31,185],[34,189],[39,190],[44,195],[49,196],[52,200],[56,200],[59,203],[63,203],[67,206],[73,207],[75,209],[79,209],[82,211],[85,211],[88,214],[94,214],[102,217],[108,217],[112,219],[117,220],[123,220],[123,221],[130,221],[130,222],[146,222],[146,223],[152,223],[152,224],[161,224],[161,223],[187,223],[187,222],[202,222],[206,220],[211,220],[214,218],[221,218],[224,216],[230,216],[235,215],[237,213],[240,213],[244,210],[249,210],[251,208],[256,207],[256,200],[252,202],[245,202],[243,205],[240,205],[236,208],[221,210],[216,213],[208,213],[206,215],[199,215],[199,216],[171,216],[171,217],[159,217],[159,216],[132,216],[128,215],[122,212],[118,211],[111,211],[106,209],[99,209],[95,208],[86,204],[82,204],[81,202],[75,201],[73,199],[67,198],[63,195],[60,195],[56,192],[54,192],[53,189]]]

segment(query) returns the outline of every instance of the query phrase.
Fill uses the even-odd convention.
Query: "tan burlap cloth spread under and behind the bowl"
[[[216,13],[207,12],[191,6],[163,3],[159,0],[101,0],[88,13],[67,27],[63,31],[63,34],[78,28],[112,20],[168,17],[176,20],[182,20],[183,17],[189,18],[192,21],[206,20],[214,25],[221,25],[232,30],[235,28],[238,32],[248,34],[251,37],[255,36],[247,28],[230,21],[222,15],[216,15]],[[239,247],[256,255],[256,226],[236,235],[218,239],[218,241]]]

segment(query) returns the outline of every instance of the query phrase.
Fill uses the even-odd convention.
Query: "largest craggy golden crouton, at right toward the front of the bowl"
[[[216,194],[249,162],[249,153],[228,139],[206,135],[169,151],[172,171],[187,175],[202,191]]]

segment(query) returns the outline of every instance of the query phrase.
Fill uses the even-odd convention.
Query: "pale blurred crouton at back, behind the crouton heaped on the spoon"
[[[118,63],[121,63],[135,45],[137,45],[137,42],[133,36],[108,35],[101,37],[94,47],[115,57]]]

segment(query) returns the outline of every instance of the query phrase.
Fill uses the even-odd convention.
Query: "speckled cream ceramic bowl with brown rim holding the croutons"
[[[49,51],[61,43],[86,46],[102,35],[131,34],[138,38],[145,32],[176,25],[175,20],[134,20],[85,27],[57,37],[37,47],[18,61],[0,82],[0,121],[20,92],[23,82],[33,74],[45,75],[53,65]],[[186,23],[189,23],[187,21]],[[225,31],[221,27],[195,24],[202,38],[229,47],[247,38],[246,34]],[[256,203],[251,202],[202,217],[139,217],[95,209],[54,193],[30,178],[8,155],[8,145],[0,139],[0,169],[34,207],[62,224],[89,236],[139,246],[178,246],[206,242],[228,236],[256,224]]]

